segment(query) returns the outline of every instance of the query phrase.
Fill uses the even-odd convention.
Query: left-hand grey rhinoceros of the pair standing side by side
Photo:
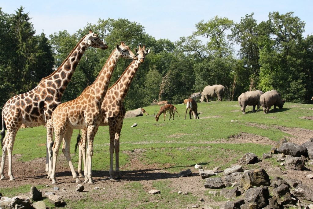
[[[252,112],[255,112],[255,106],[257,106],[257,110],[260,108],[260,96],[263,94],[263,91],[247,91],[245,93],[240,94],[238,97],[238,103],[241,107],[242,114],[246,114],[245,109],[246,106],[252,106]]]

